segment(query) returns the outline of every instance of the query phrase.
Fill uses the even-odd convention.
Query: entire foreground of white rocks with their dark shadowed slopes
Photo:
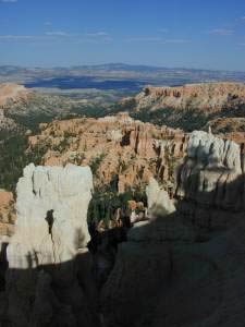
[[[86,247],[90,169],[27,166],[7,247],[4,326],[243,326],[244,171],[241,144],[191,133],[173,195],[149,177],[149,219],[127,230],[98,290]]]

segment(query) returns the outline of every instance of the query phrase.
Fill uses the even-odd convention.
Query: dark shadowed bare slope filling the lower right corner
[[[107,326],[242,327],[244,231],[240,221],[206,242],[122,244],[103,288]]]

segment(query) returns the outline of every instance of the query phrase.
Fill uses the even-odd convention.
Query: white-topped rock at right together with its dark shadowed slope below
[[[169,213],[171,201],[160,201],[151,180],[148,204],[160,201],[161,215],[136,223],[119,246],[101,293],[108,327],[243,326],[242,154],[234,142],[191,134],[175,211]]]

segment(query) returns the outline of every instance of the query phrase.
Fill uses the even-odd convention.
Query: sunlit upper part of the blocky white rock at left
[[[88,167],[34,167],[17,183],[16,233],[8,249],[10,268],[74,258],[89,241],[87,207],[93,177]],[[25,259],[16,254],[24,251]]]

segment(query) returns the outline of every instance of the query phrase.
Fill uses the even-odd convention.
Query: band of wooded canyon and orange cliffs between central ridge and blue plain
[[[203,83],[183,86],[146,86],[130,97],[112,89],[66,92],[0,84],[0,131],[37,131],[38,123],[71,117],[114,116],[128,111],[135,119],[186,132],[244,132],[245,86],[243,83]]]

